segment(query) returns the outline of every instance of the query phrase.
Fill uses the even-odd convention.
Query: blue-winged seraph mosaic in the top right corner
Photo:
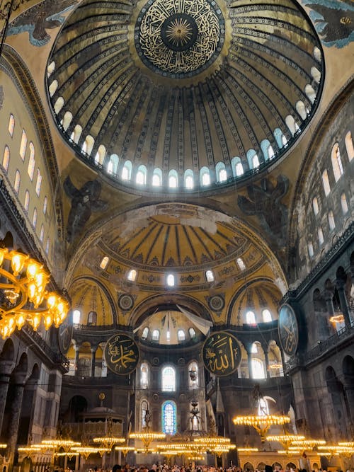
[[[303,0],[324,45],[344,47],[354,41],[353,0]]]

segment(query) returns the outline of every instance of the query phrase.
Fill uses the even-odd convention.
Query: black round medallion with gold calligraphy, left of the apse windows
[[[105,345],[105,364],[118,375],[131,374],[139,362],[139,347],[125,334],[115,334]]]

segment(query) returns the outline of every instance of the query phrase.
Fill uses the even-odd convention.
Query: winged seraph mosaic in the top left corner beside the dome
[[[45,0],[28,8],[8,25],[7,35],[18,35],[28,31],[30,44],[44,46],[49,42],[47,30],[58,28],[64,23],[65,13],[78,3],[79,0]]]

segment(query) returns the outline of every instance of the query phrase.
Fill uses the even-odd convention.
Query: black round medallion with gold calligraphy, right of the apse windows
[[[202,360],[210,374],[232,374],[241,362],[239,341],[226,331],[212,333],[202,347]]]

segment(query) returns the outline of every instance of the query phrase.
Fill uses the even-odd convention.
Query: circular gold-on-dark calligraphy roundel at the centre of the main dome
[[[225,21],[215,0],[149,0],[134,32],[142,62],[173,79],[207,69],[219,56],[224,37]]]

